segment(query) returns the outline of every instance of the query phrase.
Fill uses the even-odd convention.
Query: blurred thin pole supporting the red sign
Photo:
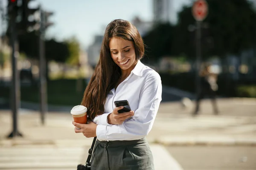
[[[201,83],[200,83],[200,68],[201,68],[201,21],[196,22],[196,94],[199,97]]]

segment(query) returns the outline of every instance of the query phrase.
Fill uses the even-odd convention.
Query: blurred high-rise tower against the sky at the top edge
[[[153,0],[154,22],[174,23],[175,11],[172,0]]]

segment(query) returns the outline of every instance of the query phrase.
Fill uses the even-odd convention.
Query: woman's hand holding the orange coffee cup
[[[73,121],[72,124],[75,126],[76,133],[83,133],[83,135],[87,138],[96,136],[97,125],[94,122],[89,122],[88,124],[81,124]],[[81,129],[77,129],[76,127]]]

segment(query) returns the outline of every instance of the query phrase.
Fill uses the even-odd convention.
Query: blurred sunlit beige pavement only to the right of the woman
[[[256,99],[218,99],[217,105],[220,113],[214,115],[211,101],[203,100],[193,117],[194,102],[186,108],[162,103],[149,137],[165,145],[256,145]]]

